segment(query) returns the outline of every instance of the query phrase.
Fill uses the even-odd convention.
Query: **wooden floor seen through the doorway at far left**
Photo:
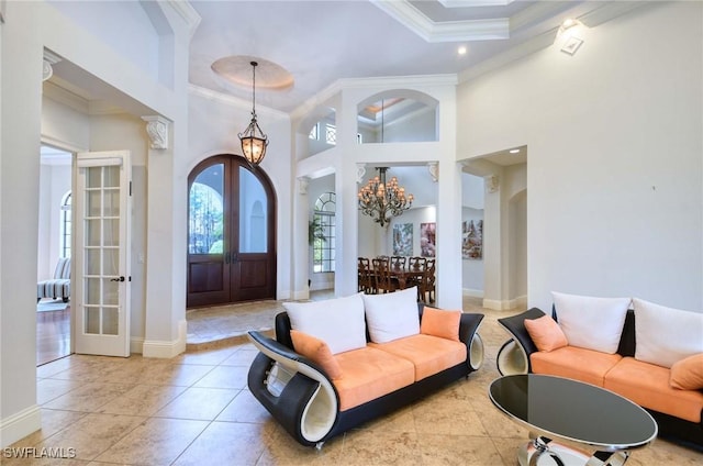
[[[36,365],[70,354],[70,306],[36,313]]]

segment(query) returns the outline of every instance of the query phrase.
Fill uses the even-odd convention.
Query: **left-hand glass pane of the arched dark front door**
[[[188,198],[188,252],[222,254],[224,228],[224,164],[202,170]]]

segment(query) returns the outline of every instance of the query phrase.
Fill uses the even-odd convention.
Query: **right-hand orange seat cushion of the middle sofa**
[[[423,334],[382,344],[369,343],[369,346],[412,362],[415,367],[415,381],[466,363],[467,356],[464,343]]]

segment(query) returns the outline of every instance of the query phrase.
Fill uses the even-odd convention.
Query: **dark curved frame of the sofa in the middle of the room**
[[[423,304],[419,304],[421,319],[423,308]],[[288,313],[281,312],[276,315],[276,340],[260,332],[248,332],[249,340],[260,351],[249,368],[249,390],[295,441],[304,446],[322,448],[328,439],[408,406],[455,380],[468,378],[483,362],[483,343],[477,333],[482,319],[483,314],[461,314],[459,340],[467,346],[466,362],[383,397],[339,411],[339,396],[334,384],[320,366],[294,352],[290,339],[290,319]],[[290,375],[290,379],[271,381],[271,374],[280,371],[281,367],[283,373]],[[269,390],[269,384],[282,386],[280,393],[272,393],[276,390]]]

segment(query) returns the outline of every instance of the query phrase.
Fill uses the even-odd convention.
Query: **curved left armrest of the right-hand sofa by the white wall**
[[[498,370],[501,375],[527,374],[532,371],[529,355],[537,351],[527,329],[526,319],[538,319],[545,313],[537,308],[509,318],[498,319],[498,323],[510,333],[512,340],[505,342],[496,357]]]

